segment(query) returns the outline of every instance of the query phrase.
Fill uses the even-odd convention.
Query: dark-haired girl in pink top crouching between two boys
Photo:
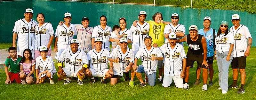
[[[20,60],[20,80],[21,84],[33,83],[34,71],[35,71],[35,60],[32,58],[30,49],[25,49],[23,57]]]

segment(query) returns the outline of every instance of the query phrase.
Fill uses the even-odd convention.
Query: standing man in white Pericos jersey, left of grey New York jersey
[[[65,13],[64,20],[65,23],[62,25],[58,25],[55,31],[55,42],[54,42],[54,51],[56,53],[56,59],[59,59],[63,50],[69,48],[69,44],[71,39],[74,38],[74,35],[77,35],[76,27],[71,22],[71,14]]]

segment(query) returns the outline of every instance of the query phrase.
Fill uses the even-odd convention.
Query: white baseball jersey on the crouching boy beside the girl
[[[46,56],[46,60],[44,61],[42,56],[39,56],[36,58],[36,69],[39,69],[40,72],[42,73],[45,70],[48,71],[52,71],[53,73],[56,73],[56,68],[54,66],[54,63],[52,61],[52,57]],[[44,73],[43,75],[41,75],[41,77],[44,77],[46,75],[46,73]]]

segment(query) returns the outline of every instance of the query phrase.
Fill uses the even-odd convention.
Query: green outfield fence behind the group
[[[26,8],[32,8],[34,11],[33,19],[36,20],[37,13],[44,13],[45,22],[51,22],[54,30],[59,21],[63,21],[64,13],[70,12],[72,23],[81,23],[82,17],[90,19],[90,26],[98,25],[101,15],[107,16],[108,25],[118,25],[120,17],[125,17],[127,28],[130,29],[132,22],[138,20],[140,10],[147,12],[146,20],[152,20],[152,15],[156,12],[163,13],[164,21],[171,21],[172,13],[178,13],[180,22],[186,27],[192,24],[197,25],[199,29],[203,28],[203,18],[209,16],[212,18],[211,27],[218,30],[222,20],[231,23],[231,16],[239,14],[241,24],[247,26],[252,35],[252,45],[256,46],[256,14],[249,14],[237,10],[208,10],[195,9],[189,7],[171,7],[171,6],[153,6],[139,4],[113,4],[113,3],[92,3],[82,1],[45,1],[45,0],[22,0],[22,1],[0,1],[0,43],[12,43],[12,29],[15,21],[24,18]]]

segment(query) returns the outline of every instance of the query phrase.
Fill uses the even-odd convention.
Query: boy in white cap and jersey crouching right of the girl
[[[40,46],[40,55],[36,58],[36,84],[44,83],[46,78],[50,79],[50,84],[54,84],[53,75],[57,72],[52,61],[52,57],[47,56],[48,50],[45,45]],[[39,72],[39,70],[40,72]]]

